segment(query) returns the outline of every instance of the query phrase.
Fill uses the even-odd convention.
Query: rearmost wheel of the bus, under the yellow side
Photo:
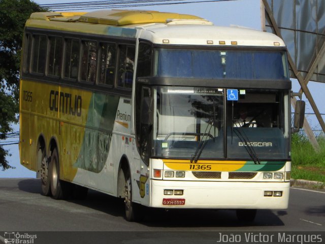
[[[42,186],[42,194],[44,196],[51,196],[51,188],[50,188],[50,178],[49,178],[49,164],[48,158],[46,156],[46,151],[43,148],[40,148],[37,152],[37,158],[41,160],[41,186]]]

